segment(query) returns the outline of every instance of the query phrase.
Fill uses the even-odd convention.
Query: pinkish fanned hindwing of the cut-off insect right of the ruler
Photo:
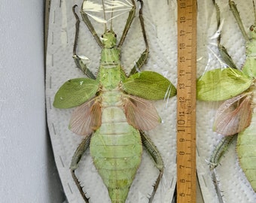
[[[221,135],[242,132],[251,123],[251,95],[238,95],[224,102],[216,113],[214,131]]]

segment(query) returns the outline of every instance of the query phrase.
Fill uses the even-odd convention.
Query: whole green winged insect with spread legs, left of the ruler
[[[114,1],[109,2],[114,5]],[[90,156],[108,188],[108,194],[113,203],[126,201],[142,159],[142,145],[160,171],[149,202],[152,202],[163,175],[163,160],[160,153],[144,132],[154,129],[161,122],[157,110],[148,100],[172,97],[175,95],[176,89],[166,77],[157,72],[137,72],[147,61],[149,52],[142,17],[142,0],[139,0],[139,20],[146,48],[134,65],[130,76],[127,77],[124,73],[120,65],[120,47],[136,13],[136,3],[134,0],[131,2],[133,7],[118,44],[112,23],[109,29],[105,23],[105,32],[99,38],[83,9],[87,1],[84,1],[82,5],[81,17],[99,47],[102,48],[97,77],[76,54],[80,20],[75,13],[76,5],[73,7],[76,17],[73,58],[78,68],[87,77],[71,79],[60,86],[56,92],[53,106],[64,109],[76,107],[70,120],[69,129],[75,134],[84,135],[84,140],[75,151],[70,169],[72,177],[87,203],[89,198],[85,195],[78,177],[75,175],[75,170],[88,148],[90,148]],[[102,1],[102,6],[104,8],[104,1]]]

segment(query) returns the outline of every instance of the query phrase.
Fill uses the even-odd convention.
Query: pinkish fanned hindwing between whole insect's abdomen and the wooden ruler
[[[161,122],[154,105],[144,98],[127,95],[123,107],[127,122],[136,129],[151,130]]]

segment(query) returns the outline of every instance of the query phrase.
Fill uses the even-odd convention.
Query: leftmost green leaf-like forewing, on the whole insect
[[[76,107],[93,98],[98,88],[98,81],[90,78],[68,80],[56,92],[53,106],[55,108]]]

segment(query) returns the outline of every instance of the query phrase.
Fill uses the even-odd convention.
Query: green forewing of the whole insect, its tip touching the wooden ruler
[[[137,95],[150,100],[172,97],[176,94],[175,86],[154,71],[143,71],[131,75],[123,81],[123,90],[130,95]]]

